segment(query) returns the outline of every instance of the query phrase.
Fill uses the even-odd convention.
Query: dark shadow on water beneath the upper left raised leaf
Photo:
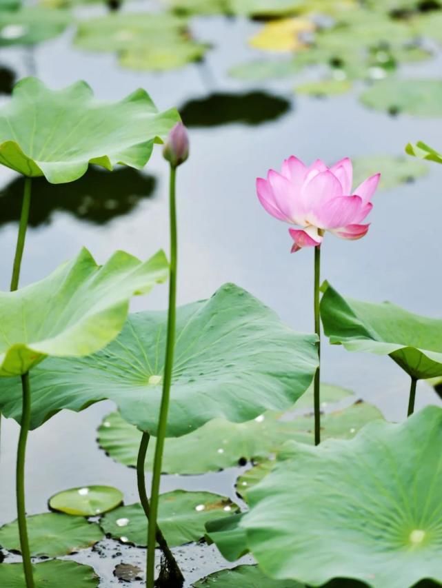
[[[19,221],[23,185],[20,176],[0,190],[0,225]],[[81,221],[104,225],[151,198],[155,185],[153,176],[131,168],[108,172],[90,167],[82,178],[67,184],[54,185],[44,178],[34,178],[29,223],[32,227],[49,223],[52,213],[61,211]]]

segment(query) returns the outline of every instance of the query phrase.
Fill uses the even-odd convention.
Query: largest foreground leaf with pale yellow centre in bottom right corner
[[[372,588],[441,582],[441,444],[439,407],[350,441],[294,443],[292,460],[250,490],[240,522],[261,569],[313,586],[338,575]]]

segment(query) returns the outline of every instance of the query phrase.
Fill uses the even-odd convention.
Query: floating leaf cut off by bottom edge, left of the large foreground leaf
[[[272,580],[257,565],[239,565],[233,569],[215,571],[192,584],[192,588],[305,588],[305,584],[291,580]]]

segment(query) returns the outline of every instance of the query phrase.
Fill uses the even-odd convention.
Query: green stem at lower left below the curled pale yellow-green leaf
[[[31,417],[29,372],[26,372],[26,374],[23,374],[23,376],[21,376],[21,387],[23,389],[23,409],[21,411],[19,447],[17,449],[17,520],[19,523],[20,549],[21,557],[23,558],[23,570],[25,572],[26,588],[34,588],[34,577],[32,576],[32,563],[30,558],[25,508],[26,440],[28,439],[28,431]]]

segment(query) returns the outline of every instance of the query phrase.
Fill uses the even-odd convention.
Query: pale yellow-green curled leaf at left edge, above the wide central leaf
[[[162,251],[144,263],[119,251],[99,266],[83,249],[47,278],[0,292],[0,376],[25,374],[48,355],[96,352],[121,331],[131,296],[149,292],[167,276]],[[17,379],[3,383],[14,387]]]

